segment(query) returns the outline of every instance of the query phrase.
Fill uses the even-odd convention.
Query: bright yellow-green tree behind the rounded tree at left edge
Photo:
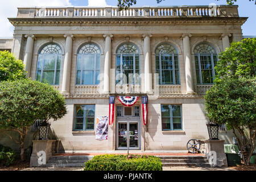
[[[22,60],[16,60],[13,53],[0,51],[0,82],[26,77]]]

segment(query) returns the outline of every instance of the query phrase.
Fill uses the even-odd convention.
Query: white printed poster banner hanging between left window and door
[[[96,140],[107,140],[108,139],[108,120],[107,116],[97,117],[96,122]]]

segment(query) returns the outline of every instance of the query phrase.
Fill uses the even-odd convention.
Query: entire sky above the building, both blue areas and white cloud
[[[249,0],[237,0],[236,5],[239,6],[240,16],[249,17],[247,22],[243,24],[243,35],[256,36],[256,5]],[[181,5],[209,5],[216,3],[217,5],[226,5],[225,0],[165,0],[156,3],[156,0],[137,0],[135,6],[181,6]],[[117,0],[8,0],[0,6],[0,37],[12,37],[13,25],[7,18],[14,18],[17,14],[17,7],[21,6],[116,6]]]

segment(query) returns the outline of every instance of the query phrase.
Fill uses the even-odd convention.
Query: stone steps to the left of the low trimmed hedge
[[[84,167],[93,156],[51,156],[46,167]]]

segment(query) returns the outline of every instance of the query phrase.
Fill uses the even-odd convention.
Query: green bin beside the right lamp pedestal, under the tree
[[[224,144],[224,150],[226,159],[228,160],[228,166],[235,166],[241,164],[241,156],[239,154],[238,146],[235,144]]]

